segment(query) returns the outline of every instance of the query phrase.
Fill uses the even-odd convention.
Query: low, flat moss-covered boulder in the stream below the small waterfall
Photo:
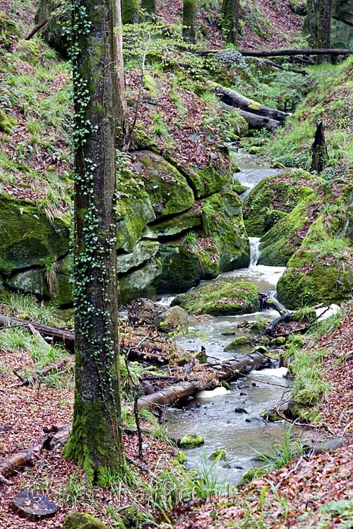
[[[258,288],[246,281],[217,281],[181,294],[172,305],[180,305],[193,314],[249,314],[259,309]]]

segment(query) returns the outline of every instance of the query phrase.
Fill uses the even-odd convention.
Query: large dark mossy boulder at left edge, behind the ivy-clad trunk
[[[70,218],[49,222],[34,202],[0,197],[0,272],[42,267],[68,252]]]

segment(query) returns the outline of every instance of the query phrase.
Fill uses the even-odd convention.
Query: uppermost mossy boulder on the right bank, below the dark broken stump
[[[313,193],[311,183],[313,185],[313,176],[301,169],[264,178],[244,200],[244,222],[248,235],[263,236],[300,200]]]

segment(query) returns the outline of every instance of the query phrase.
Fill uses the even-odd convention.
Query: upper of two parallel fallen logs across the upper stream
[[[208,86],[217,94],[222,102],[229,105],[230,107],[237,107],[238,109],[249,112],[250,114],[256,114],[257,116],[265,116],[266,118],[280,121],[282,123],[289,116],[287,112],[273,109],[272,107],[265,107],[265,105],[253,101],[244,95],[239,94],[235,90],[226,88],[218,83],[208,82]]]

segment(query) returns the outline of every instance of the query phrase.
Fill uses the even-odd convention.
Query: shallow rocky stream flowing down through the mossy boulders
[[[263,178],[278,174],[275,169],[264,169],[253,162],[249,154],[239,152],[237,163],[241,172],[234,175],[241,183],[251,188]],[[246,192],[248,193],[248,192]],[[245,193],[244,193],[245,194]],[[244,195],[243,194],[243,195]],[[258,266],[260,255],[258,238],[249,238],[251,244],[251,264],[249,268],[234,270],[221,274],[214,281],[236,279],[237,281],[251,281],[261,292],[275,293],[277,281],[285,271],[284,267]],[[203,281],[203,284],[210,281]],[[163,305],[169,305],[172,298],[161,300]],[[234,358],[234,353],[224,351],[225,346],[237,336],[246,336],[246,329],[238,328],[244,320],[253,322],[263,319],[274,320],[277,312],[265,310],[250,315],[234,317],[191,317],[191,334],[179,339],[184,348],[200,351],[205,346],[209,360],[227,360]],[[249,353],[241,351],[241,354]],[[264,382],[281,384],[282,387],[261,382],[253,383],[251,379],[242,377],[230,384],[230,390],[222,395],[210,392],[206,398],[196,396],[182,409],[171,408],[166,417],[167,431],[171,437],[181,438],[185,434],[200,434],[205,444],[200,448],[186,449],[187,465],[190,469],[201,468],[205,463],[210,466],[213,462],[208,458],[213,451],[225,449],[225,461],[220,461],[215,472],[221,482],[236,484],[241,475],[249,468],[258,465],[254,459],[261,454],[271,454],[273,444],[281,444],[284,439],[285,422],[268,423],[261,419],[261,412],[271,408],[282,397],[289,382],[283,377],[283,370],[266,369],[253,371],[251,377]],[[246,413],[236,413],[236,408],[244,408]]]

